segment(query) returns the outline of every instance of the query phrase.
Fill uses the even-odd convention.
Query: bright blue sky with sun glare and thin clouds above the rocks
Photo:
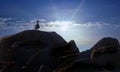
[[[120,0],[0,0],[0,36],[33,29],[37,19],[81,50],[102,37],[120,40]]]

